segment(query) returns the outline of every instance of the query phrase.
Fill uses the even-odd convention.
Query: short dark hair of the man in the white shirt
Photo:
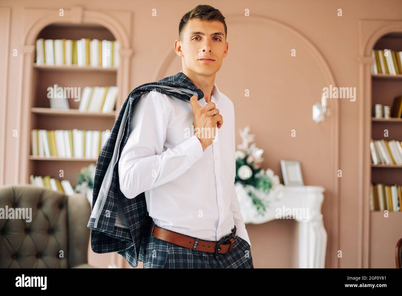
[[[226,39],[226,36],[228,35],[228,27],[226,27],[225,17],[223,16],[223,14],[218,9],[213,8],[212,6],[200,4],[187,12],[181,18],[180,24],[178,25],[178,37],[181,41],[183,41],[184,28],[191,19],[201,19],[204,21],[220,21],[224,24]]]

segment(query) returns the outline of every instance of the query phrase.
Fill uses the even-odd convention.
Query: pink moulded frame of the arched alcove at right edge
[[[371,166],[371,154],[370,154],[370,141],[371,138],[379,136],[379,130],[384,128],[383,123],[379,123],[378,127],[373,128],[373,124],[376,124],[371,120],[372,116],[372,104],[377,100],[378,91],[385,85],[392,84],[396,77],[379,77],[378,75],[372,74],[372,63],[373,58],[371,56],[371,51],[373,49],[378,49],[383,46],[392,46],[392,43],[387,42],[385,39],[388,38],[400,38],[402,36],[402,21],[385,21],[385,20],[360,20],[359,21],[359,204],[358,204],[358,267],[360,268],[371,268],[372,262],[371,257],[375,254],[375,247],[372,246],[373,231],[377,234],[384,234],[383,230],[373,228],[379,226],[380,228],[384,225],[378,222],[384,221],[382,219],[383,213],[381,212],[370,212],[369,205],[369,195],[370,195],[370,183],[372,177],[373,181],[379,180],[380,176],[384,172],[374,172],[372,175],[372,170],[379,170],[379,168],[372,168]],[[401,43],[402,45],[402,43]],[[393,48],[391,48],[394,50]],[[384,81],[382,81],[384,79]],[[385,85],[384,85],[385,84]],[[379,85],[383,87],[379,88]],[[385,87],[387,89],[387,87]],[[389,90],[392,92],[392,89]],[[393,95],[388,94],[389,97]],[[389,103],[386,100],[386,104]],[[384,132],[383,132],[384,133]],[[386,169],[388,170],[388,168]],[[400,170],[396,168],[395,170]],[[392,182],[392,181],[390,181]],[[386,219],[389,221],[388,219]],[[377,224],[377,225],[374,225]],[[392,228],[392,227],[391,227]],[[390,239],[388,236],[387,239]],[[378,241],[383,242],[382,238],[375,238]],[[395,242],[396,243],[396,242]],[[387,244],[392,244],[392,242],[387,242]],[[394,246],[389,246],[394,248]],[[391,258],[392,257],[392,258]],[[394,259],[394,255],[390,254],[389,260]],[[384,260],[383,260],[384,261]],[[389,262],[388,262],[389,265]]]

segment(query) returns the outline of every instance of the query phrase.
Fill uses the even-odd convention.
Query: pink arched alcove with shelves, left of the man
[[[18,75],[18,93],[15,97],[15,108],[18,118],[16,118],[18,137],[16,137],[16,155],[15,158],[15,182],[29,183],[30,175],[51,175],[59,176],[60,170],[64,171],[66,178],[74,178],[80,167],[87,166],[91,161],[66,161],[66,160],[42,160],[34,159],[31,153],[31,130],[43,128],[47,130],[63,129],[71,130],[77,128],[81,130],[101,130],[105,126],[107,129],[113,128],[115,118],[117,118],[120,106],[124,101],[124,94],[129,93],[130,80],[130,58],[133,53],[129,37],[128,25],[131,23],[131,14],[127,12],[115,12],[109,10],[101,12],[96,10],[85,10],[81,6],[72,6],[70,9],[64,9],[64,15],[61,16],[59,9],[49,8],[26,8],[28,11],[22,27],[21,44],[22,49],[18,53],[20,59],[20,68]],[[118,16],[124,15],[124,19]],[[64,33],[63,33],[64,32]],[[86,35],[88,33],[88,35]],[[36,58],[36,39],[109,39],[119,41],[119,66],[113,69],[68,69],[59,67],[38,67],[34,61]],[[76,77],[75,77],[76,76]],[[98,76],[98,77],[96,77]],[[112,116],[107,114],[103,116],[94,115],[88,118],[74,114],[57,114],[43,112],[37,115],[32,108],[38,106],[45,109],[47,98],[43,99],[43,89],[47,84],[54,80],[68,81],[73,87],[82,87],[91,84],[90,81],[97,81],[100,85],[116,85],[119,87],[116,108]],[[53,80],[53,81],[52,81]],[[112,83],[114,81],[114,83]],[[123,95],[122,95],[123,94]],[[74,102],[72,102],[74,104]],[[39,119],[40,117],[40,119]],[[102,126],[104,125],[104,126]],[[96,162],[96,161],[95,161]],[[93,163],[95,163],[93,162]],[[117,254],[94,255],[95,261],[106,259],[108,263],[123,266],[123,258]]]

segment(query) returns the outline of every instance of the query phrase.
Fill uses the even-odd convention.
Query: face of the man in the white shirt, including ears
[[[224,25],[219,21],[191,19],[182,33],[183,40],[176,40],[175,48],[187,70],[205,76],[215,74],[228,52]]]

